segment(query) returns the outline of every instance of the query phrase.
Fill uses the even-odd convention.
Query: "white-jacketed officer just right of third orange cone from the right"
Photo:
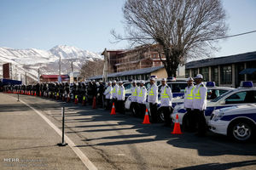
[[[118,111],[119,111],[119,113],[125,114],[125,87],[123,86],[122,81],[119,81],[117,100],[118,100]]]

